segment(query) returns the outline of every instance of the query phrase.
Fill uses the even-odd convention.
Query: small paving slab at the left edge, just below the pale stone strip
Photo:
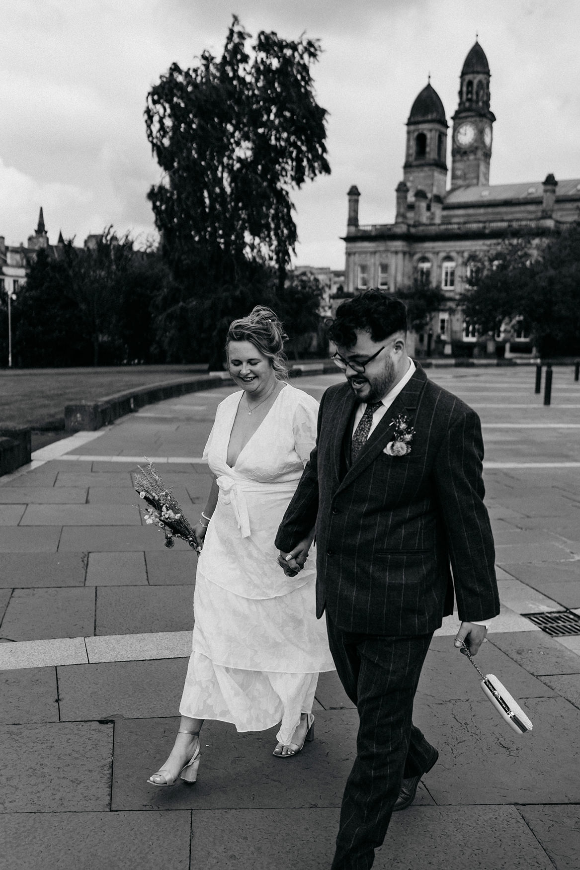
[[[0,671],[0,723],[57,722],[57,696],[54,667]]]

